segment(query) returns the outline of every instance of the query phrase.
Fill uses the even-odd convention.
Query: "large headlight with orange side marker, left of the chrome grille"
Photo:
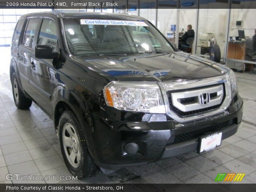
[[[162,94],[156,83],[112,82],[104,88],[108,106],[119,110],[165,113]]]

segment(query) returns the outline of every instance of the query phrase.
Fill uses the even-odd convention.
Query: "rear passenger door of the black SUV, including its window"
[[[34,37],[39,26],[40,19],[28,19],[24,29],[23,36],[20,37],[20,43],[17,48],[18,71],[22,88],[30,94],[30,65],[32,55],[34,54]]]

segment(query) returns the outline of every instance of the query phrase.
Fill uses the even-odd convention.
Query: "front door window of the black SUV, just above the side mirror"
[[[51,45],[56,51],[57,39],[55,23],[52,20],[43,20],[37,44]]]

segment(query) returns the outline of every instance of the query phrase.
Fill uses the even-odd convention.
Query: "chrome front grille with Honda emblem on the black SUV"
[[[211,86],[221,85],[222,98],[218,97],[218,91],[207,92],[208,98],[210,100],[218,101],[216,103],[207,104],[206,106],[200,106],[200,104],[195,104],[195,101],[198,101],[198,95],[186,95],[183,97],[178,97],[176,99],[176,104],[180,105],[180,108],[176,105],[178,110],[182,112],[189,112],[188,114],[180,115],[174,108],[171,108],[172,95],[174,92],[186,92],[186,90],[200,90],[203,88],[208,88]],[[230,87],[230,78],[227,74],[221,76],[196,79],[196,80],[186,80],[186,81],[176,81],[176,82],[164,82],[159,83],[160,88],[162,89],[162,95],[164,98],[164,103],[166,106],[166,114],[178,122],[191,122],[203,118],[214,117],[218,114],[228,113],[226,110],[231,103],[231,87]],[[202,93],[202,92],[201,92]],[[204,92],[205,93],[205,92]],[[204,97],[205,98],[205,97]],[[178,100],[179,99],[179,100]],[[202,97],[201,97],[202,101]],[[198,108],[193,108],[196,105]],[[185,110],[184,110],[185,109]]]

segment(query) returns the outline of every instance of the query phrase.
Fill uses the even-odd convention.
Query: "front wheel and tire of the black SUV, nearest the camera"
[[[65,164],[74,176],[85,179],[100,173],[88,152],[80,123],[69,110],[65,110],[60,117],[59,137]]]

